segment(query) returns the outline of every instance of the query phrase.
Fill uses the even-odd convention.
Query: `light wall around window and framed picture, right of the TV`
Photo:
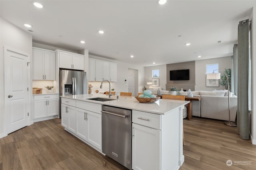
[[[197,90],[205,90],[205,91],[211,91],[211,90],[221,90],[225,89],[224,86],[219,87],[206,87],[206,64],[219,64],[220,70],[225,70],[228,68],[231,68],[231,57],[221,57],[221,58],[215,58],[215,59],[206,59],[206,60],[198,60],[196,61],[196,85],[195,85],[195,91]],[[221,71],[219,71],[222,73]]]

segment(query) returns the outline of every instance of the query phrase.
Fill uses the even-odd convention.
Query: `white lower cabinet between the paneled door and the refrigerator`
[[[39,118],[58,115],[58,95],[36,95],[34,96],[34,121]]]

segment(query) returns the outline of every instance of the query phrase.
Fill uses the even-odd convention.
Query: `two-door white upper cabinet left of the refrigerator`
[[[33,80],[55,80],[54,51],[33,47]]]

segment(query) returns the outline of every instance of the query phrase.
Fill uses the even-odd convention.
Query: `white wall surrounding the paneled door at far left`
[[[3,47],[23,51],[32,58],[32,35],[0,18],[0,138],[4,133],[4,55]],[[32,67],[31,67],[32,68]],[[29,98],[32,98],[32,81],[29,82]],[[31,100],[30,100],[31,101]],[[32,104],[32,103],[30,103]],[[32,110],[30,110],[32,113]],[[31,114],[30,114],[31,115]]]

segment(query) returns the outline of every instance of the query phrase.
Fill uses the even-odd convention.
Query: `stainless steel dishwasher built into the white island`
[[[132,170],[132,111],[102,105],[102,152]]]

